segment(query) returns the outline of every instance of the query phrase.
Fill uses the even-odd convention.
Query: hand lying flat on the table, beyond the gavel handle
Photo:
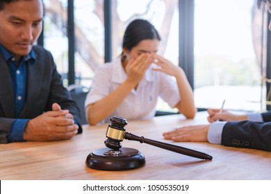
[[[172,141],[208,141],[207,134],[210,125],[190,125],[179,127],[171,132],[163,133],[165,139]]]

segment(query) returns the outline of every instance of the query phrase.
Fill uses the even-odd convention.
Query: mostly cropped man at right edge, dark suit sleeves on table
[[[257,3],[258,8],[266,6],[271,12],[271,0],[258,0]],[[271,151],[271,112],[238,116],[209,109],[208,114],[210,125],[180,127],[172,132],[165,132],[164,138],[173,141],[208,141],[233,147]],[[218,120],[223,122],[215,122]]]

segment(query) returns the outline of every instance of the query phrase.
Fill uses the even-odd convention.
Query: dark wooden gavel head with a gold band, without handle
[[[122,148],[120,142],[123,141],[126,131],[124,126],[128,123],[125,118],[120,116],[113,116],[110,118],[110,121],[111,123],[108,125],[106,131],[107,139],[104,141],[104,144],[106,144],[107,148],[120,150]]]

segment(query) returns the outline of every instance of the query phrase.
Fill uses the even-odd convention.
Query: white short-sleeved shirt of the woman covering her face
[[[101,123],[108,123],[112,116],[121,116],[127,120],[153,118],[158,96],[172,108],[179,103],[181,99],[176,82],[165,73],[152,71],[153,67],[157,68],[156,64],[151,64],[138,88],[132,89],[115,112]],[[120,87],[126,78],[120,58],[98,67],[91,89],[85,99],[85,107],[108,96],[117,87]]]

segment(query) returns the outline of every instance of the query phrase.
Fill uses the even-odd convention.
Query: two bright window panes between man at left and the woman
[[[104,62],[103,1],[74,0],[75,82],[90,87],[94,70]],[[67,87],[67,1],[44,1],[44,47],[54,55]]]

